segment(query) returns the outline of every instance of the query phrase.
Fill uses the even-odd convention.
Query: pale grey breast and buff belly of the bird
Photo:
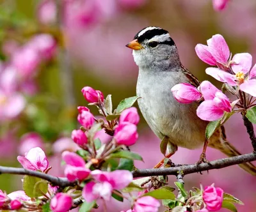
[[[204,144],[207,123],[196,116],[197,103],[181,104],[172,95],[171,88],[187,82],[182,72],[148,72],[140,70],[137,95],[143,117],[152,131],[163,139],[165,135],[177,146],[195,149]]]

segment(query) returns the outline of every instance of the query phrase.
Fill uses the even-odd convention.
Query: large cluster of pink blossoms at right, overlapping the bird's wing
[[[207,45],[195,47],[197,56],[211,66],[205,70],[214,79],[223,82],[225,89],[236,96],[234,102],[209,81],[198,87],[191,84],[177,84],[172,87],[173,96],[180,103],[201,102],[196,110],[198,117],[205,121],[216,121],[225,113],[241,112],[241,109],[253,107],[256,97],[256,64],[252,67],[252,56],[249,53],[230,56],[225,39],[220,34],[207,40]],[[240,109],[236,110],[235,106]]]

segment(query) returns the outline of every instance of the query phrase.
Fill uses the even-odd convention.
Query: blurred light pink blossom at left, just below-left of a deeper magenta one
[[[21,77],[30,77],[36,71],[41,59],[38,52],[31,47],[21,47],[13,54],[12,63]]]

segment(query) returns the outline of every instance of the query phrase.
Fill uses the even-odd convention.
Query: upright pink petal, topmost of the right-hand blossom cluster
[[[211,39],[207,40],[207,45],[211,49],[211,54],[215,61],[226,64],[230,51],[228,45],[221,34],[215,34]]]

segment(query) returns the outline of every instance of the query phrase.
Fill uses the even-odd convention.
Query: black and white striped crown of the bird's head
[[[137,39],[139,43],[151,40],[152,38],[155,38],[159,43],[175,45],[168,31],[160,27],[145,27],[134,36],[134,39]]]

